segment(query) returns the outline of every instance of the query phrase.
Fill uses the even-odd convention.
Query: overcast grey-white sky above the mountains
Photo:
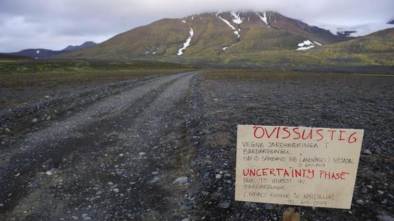
[[[160,18],[230,10],[275,10],[307,23],[356,25],[394,18],[394,0],[0,0],[0,52],[60,50]]]

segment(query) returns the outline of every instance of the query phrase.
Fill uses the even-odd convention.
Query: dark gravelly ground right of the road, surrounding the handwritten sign
[[[281,220],[282,205],[234,201],[236,125],[365,129],[352,209],[302,207],[304,220],[393,220],[393,77],[212,71],[193,83],[197,216]]]

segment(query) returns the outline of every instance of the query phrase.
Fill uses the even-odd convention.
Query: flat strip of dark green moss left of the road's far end
[[[193,66],[146,61],[21,60],[0,64],[0,87],[56,86],[64,83],[110,82],[177,73]]]

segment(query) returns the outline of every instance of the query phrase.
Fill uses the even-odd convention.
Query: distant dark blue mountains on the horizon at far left
[[[84,42],[79,46],[72,46],[69,45],[65,49],[61,51],[53,51],[49,49],[25,49],[19,52],[12,52],[12,53],[2,53],[3,55],[17,55],[17,56],[24,56],[24,57],[34,57],[34,58],[43,58],[43,57],[53,57],[55,55],[60,55],[62,53],[66,53],[69,51],[77,51],[80,49],[86,49],[88,47],[93,47],[96,43],[95,42]]]

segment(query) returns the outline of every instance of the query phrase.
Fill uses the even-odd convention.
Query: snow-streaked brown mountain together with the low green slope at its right
[[[393,67],[393,32],[349,38],[278,12],[215,12],[164,18],[57,57],[268,68]]]

